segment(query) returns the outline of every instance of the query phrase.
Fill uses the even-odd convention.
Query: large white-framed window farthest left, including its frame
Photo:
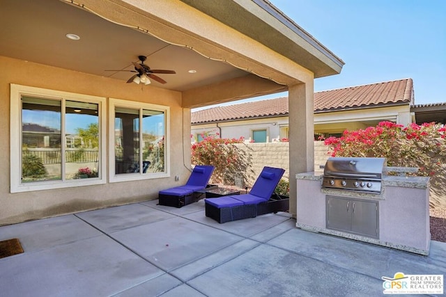
[[[12,84],[11,193],[105,183],[104,101]]]

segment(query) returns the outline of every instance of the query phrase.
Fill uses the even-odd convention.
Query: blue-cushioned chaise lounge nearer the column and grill
[[[287,211],[289,199],[274,198],[274,190],[285,170],[264,167],[249,194],[208,198],[205,200],[206,216],[225,223],[230,220],[254,218],[261,214]]]

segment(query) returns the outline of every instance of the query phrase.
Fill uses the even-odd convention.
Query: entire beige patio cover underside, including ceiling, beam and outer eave
[[[176,71],[159,74],[166,84],[152,83],[183,92],[185,106],[199,104],[197,93],[215,94],[209,86],[263,85],[209,101],[241,99],[337,74],[344,65],[265,0],[3,0],[0,40],[2,56],[122,83],[134,74],[132,62],[147,56],[152,69]]]

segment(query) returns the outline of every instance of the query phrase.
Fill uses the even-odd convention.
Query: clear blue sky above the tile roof
[[[446,102],[445,0],[270,2],[346,63],[315,92],[411,78],[415,104]]]

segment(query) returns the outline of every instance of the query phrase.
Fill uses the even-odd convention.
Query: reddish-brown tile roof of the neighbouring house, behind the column
[[[314,93],[314,112],[362,109],[413,103],[412,79],[400,79]],[[192,113],[192,124],[288,115],[288,97],[203,109]]]

